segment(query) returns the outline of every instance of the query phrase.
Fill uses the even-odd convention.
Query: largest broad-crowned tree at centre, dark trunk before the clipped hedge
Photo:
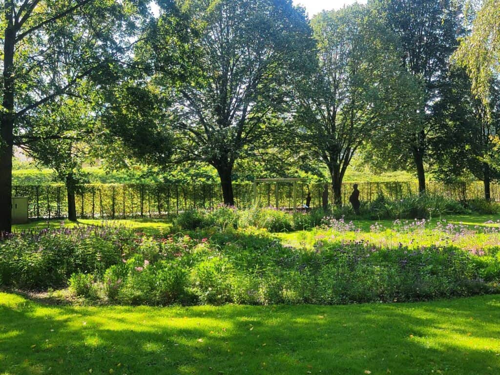
[[[272,137],[271,114],[280,110],[284,87],[308,56],[310,28],[291,0],[175,3],[162,8],[136,50],[150,68],[150,76],[136,84],[154,92],[163,108],[163,129],[174,137],[172,162],[212,165],[224,203],[232,205],[234,163]],[[112,122],[119,135],[122,125]],[[156,122],[139,123],[133,131],[167,138]],[[126,144],[137,148],[134,141]]]

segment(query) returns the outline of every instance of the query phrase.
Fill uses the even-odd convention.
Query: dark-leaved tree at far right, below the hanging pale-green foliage
[[[495,137],[500,130],[500,85],[490,82],[486,106],[472,93],[472,82],[464,69],[453,67],[450,82],[436,106],[435,120],[441,126],[434,137],[433,169],[445,181],[470,172],[483,181],[484,198],[490,200],[490,183],[500,177],[494,163]]]

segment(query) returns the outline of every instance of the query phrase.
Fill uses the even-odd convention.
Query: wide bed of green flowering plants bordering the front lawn
[[[432,203],[427,199],[419,204],[428,207]],[[263,215],[264,222],[269,212]],[[293,215],[285,214],[292,222]],[[397,220],[394,225],[398,225],[398,233],[407,231],[408,238],[414,238],[426,235],[426,222]],[[99,285],[109,301],[150,305],[390,302],[497,290],[494,283],[500,281],[500,245],[493,244],[498,235],[496,229],[487,232],[488,246],[480,245],[482,242],[459,245],[456,240],[466,240],[467,230],[442,223],[432,233],[440,241],[451,238],[446,245],[394,246],[382,239],[394,237],[397,241],[399,234],[384,234],[380,225],[370,231],[380,232],[376,235],[382,239],[370,240],[361,237],[351,222],[337,220],[327,224],[329,228],[322,229],[324,233],[310,232],[310,247],[306,243],[285,245],[266,229],[255,227],[213,230],[201,239],[180,234],[127,234],[123,230],[109,234],[108,228],[96,232],[98,240],[91,235],[84,239],[93,250],[80,257],[75,255],[78,251],[71,250],[71,236],[63,242],[57,231],[45,234],[57,238],[50,242],[56,247],[52,256],[25,245],[16,247],[23,238],[18,235],[0,242],[4,250],[1,279],[7,285],[28,287],[67,283],[75,295],[95,298],[99,294],[93,283],[95,277],[102,281]],[[347,240],[349,233],[360,239]],[[202,235],[200,231],[194,234],[198,238]],[[118,258],[106,258],[112,249],[120,254]],[[101,265],[93,263],[94,253],[99,254]],[[86,259],[86,263],[81,259]],[[57,283],[54,276],[48,280],[42,277],[48,272],[60,275]]]

